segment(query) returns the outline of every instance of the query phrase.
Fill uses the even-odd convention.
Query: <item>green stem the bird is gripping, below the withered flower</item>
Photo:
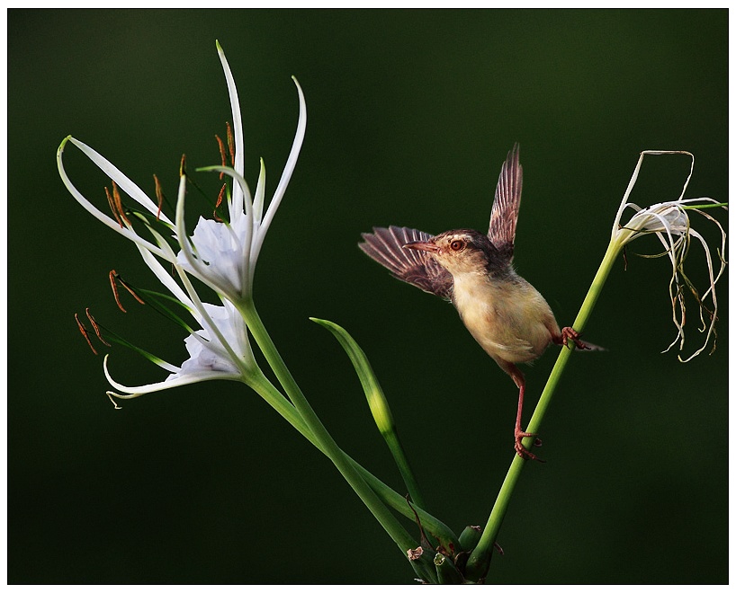
[[[603,285],[606,283],[606,278],[608,278],[608,274],[613,268],[616,256],[620,251],[621,243],[615,240],[608,243],[606,254],[598,267],[596,277],[593,279],[593,282],[588,289],[588,295],[586,295],[585,300],[580,307],[579,314],[575,319],[575,323],[572,325],[573,329],[578,332],[582,332],[586,323],[588,323],[588,318],[593,311],[593,307],[596,305],[601,290],[603,289]],[[547,411],[547,407],[552,401],[552,394],[554,394],[554,390],[560,382],[562,371],[567,365],[571,352],[571,349],[563,348],[560,355],[557,357],[557,361],[554,363],[554,367],[552,367],[552,373],[550,374],[549,379],[547,379],[547,385],[544,386],[542,395],[539,398],[539,403],[537,403],[536,408],[534,409],[534,414],[532,415],[532,419],[529,420],[529,426],[526,428],[526,431],[534,433],[539,432],[539,429],[542,426],[544,412]],[[532,447],[533,441],[534,438],[532,437],[525,438],[523,445],[527,448]],[[516,482],[518,482],[524,465],[525,459],[521,456],[514,456],[514,461],[511,462],[511,466],[508,468],[506,479],[501,485],[501,490],[498,491],[496,503],[493,505],[493,509],[490,512],[490,517],[485,529],[483,530],[483,535],[480,536],[480,542],[476,546],[475,550],[473,550],[471,557],[468,560],[467,572],[469,578],[471,577],[476,580],[480,579],[488,571],[493,544],[496,542],[496,537],[501,528],[501,523],[506,516],[511,495],[516,487]]]

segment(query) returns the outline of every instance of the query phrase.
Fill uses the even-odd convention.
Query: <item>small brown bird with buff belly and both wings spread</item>
[[[535,435],[521,429],[525,379],[516,365],[539,358],[550,343],[567,346],[571,340],[579,349],[590,347],[572,328],[560,330],[547,301],[511,265],[521,186],[516,144],[501,167],[488,235],[374,227],[358,246],[399,280],[452,301],[472,337],[519,388],[515,448],[519,456],[536,459],[521,444]]]

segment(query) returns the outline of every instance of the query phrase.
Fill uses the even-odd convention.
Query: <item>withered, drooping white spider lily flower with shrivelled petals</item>
[[[633,190],[636,180],[639,176],[639,171],[642,168],[642,162],[645,155],[687,155],[690,157],[690,172],[687,175],[687,180],[683,185],[682,191],[678,196],[678,199],[660,202],[658,204],[652,204],[646,208],[641,208],[632,202],[629,202],[629,196]],[[711,337],[715,336],[715,322],[718,314],[718,300],[715,294],[715,285],[718,279],[721,278],[723,270],[726,266],[724,259],[726,233],[723,230],[723,226],[714,218],[708,215],[703,208],[713,208],[714,206],[723,206],[716,200],[711,198],[695,198],[685,199],[685,191],[687,190],[687,184],[693,174],[693,168],[695,166],[695,156],[687,151],[681,150],[645,150],[639,156],[639,161],[634,168],[631,181],[624,193],[624,199],[621,200],[621,205],[618,208],[618,213],[615,218],[614,227],[611,232],[611,242],[617,247],[622,249],[626,244],[631,243],[634,239],[642,235],[656,235],[660,240],[660,243],[664,246],[665,251],[649,257],[660,257],[667,255],[672,265],[672,277],[669,281],[669,296],[672,303],[672,321],[677,328],[677,336],[669,347],[664,350],[668,351],[673,346],[678,344],[680,352],[685,347],[685,322],[686,322],[686,295],[689,292],[696,299],[696,304],[699,307],[700,323],[701,327],[698,328],[700,332],[705,332],[705,341],[703,345],[698,348],[693,354],[687,358],[682,358],[682,355],[678,355],[678,358],[682,362],[696,357],[700,354]],[[725,208],[725,206],[723,206]],[[624,211],[627,209],[633,209],[634,214],[628,222],[622,222]],[[716,258],[720,262],[718,271],[715,271],[714,257],[711,247],[705,240],[705,236],[698,233],[691,225],[689,213],[696,212],[705,219],[710,220],[718,227],[721,232],[721,242],[716,248]],[[705,262],[707,265],[708,273],[708,288],[703,294],[697,290],[691,280],[685,273],[685,261],[689,253],[690,243],[692,239],[696,239],[698,243],[703,247],[705,253]],[[706,299],[710,298],[710,303],[706,305]],[[715,342],[713,350],[715,349]],[[713,351],[711,350],[711,351]]]

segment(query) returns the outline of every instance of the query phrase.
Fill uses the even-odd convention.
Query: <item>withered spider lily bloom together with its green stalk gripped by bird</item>
[[[641,208],[636,204],[629,202],[629,197],[636,180],[639,177],[639,172],[642,168],[645,155],[687,155],[690,157],[690,171],[677,199],[652,204],[647,208]],[[705,333],[705,342],[687,358],[682,358],[681,355],[678,355],[679,360],[682,362],[691,360],[705,350],[710,339],[712,337],[714,338],[715,321],[718,313],[718,300],[716,298],[715,287],[718,279],[723,275],[723,270],[726,266],[726,261],[723,259],[726,234],[723,230],[723,226],[721,226],[714,217],[708,215],[704,211],[704,208],[712,208],[714,206],[726,208],[726,205],[718,203],[716,200],[711,198],[684,198],[687,184],[693,174],[694,166],[695,157],[686,151],[645,150],[641,153],[639,160],[634,167],[632,179],[629,181],[629,185],[624,192],[624,198],[622,199],[621,205],[616,213],[614,226],[611,231],[611,240],[606,248],[603,261],[601,261],[596,276],[588,289],[588,294],[580,307],[575,323],[572,325],[575,330],[582,332],[585,329],[586,323],[588,323],[588,319],[593,312],[593,307],[596,305],[597,299],[606,283],[608,274],[613,269],[616,258],[622,252],[624,247],[643,235],[655,235],[664,246],[665,251],[650,257],[661,257],[666,255],[672,266],[672,277],[669,282],[669,294],[672,301],[673,320],[678,330],[678,337],[672,342],[672,344],[670,344],[667,350],[678,342],[680,351],[682,351],[685,346],[686,290],[684,288],[687,288],[687,291],[689,291],[695,298],[696,304],[698,305],[702,324],[700,329],[701,332]],[[633,209],[635,214],[627,222],[623,222],[622,217],[627,209]],[[698,233],[691,226],[689,218],[689,213],[691,212],[695,212],[698,215],[705,217],[706,220],[713,222],[720,230],[721,241],[716,248],[715,258],[711,247],[706,243],[704,236]],[[708,271],[709,286],[702,294],[696,289],[692,282],[690,282],[685,273],[685,261],[689,253],[690,243],[694,238],[703,247]],[[717,270],[714,268],[714,261],[719,262]],[[708,302],[706,299],[709,299],[710,305],[706,304]],[[547,380],[547,384],[544,386],[532,419],[529,420],[529,425],[526,429],[528,432],[536,433],[540,430],[544,413],[547,411],[547,408],[552,401],[552,394],[554,394],[562,372],[570,359],[571,351],[572,350],[566,348],[561,350],[554,367],[552,367],[552,373]],[[524,442],[525,447],[531,447],[532,441],[533,438],[526,438]],[[491,510],[488,523],[483,530],[480,542],[468,561],[469,578],[480,579],[488,571],[490,553],[493,548],[493,544],[496,542],[498,531],[500,530],[501,523],[506,515],[509,501],[511,500],[511,495],[516,487],[516,482],[518,481],[524,465],[525,460],[516,456],[507,472],[506,479],[498,492],[498,498]]]

